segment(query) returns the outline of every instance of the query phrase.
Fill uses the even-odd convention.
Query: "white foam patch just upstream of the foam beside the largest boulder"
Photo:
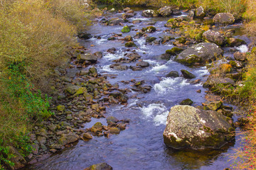
[[[164,94],[166,91],[174,91],[177,90],[178,87],[187,86],[189,83],[186,79],[182,79],[181,77],[176,78],[163,78],[159,84],[154,85],[154,91],[158,94]]]

